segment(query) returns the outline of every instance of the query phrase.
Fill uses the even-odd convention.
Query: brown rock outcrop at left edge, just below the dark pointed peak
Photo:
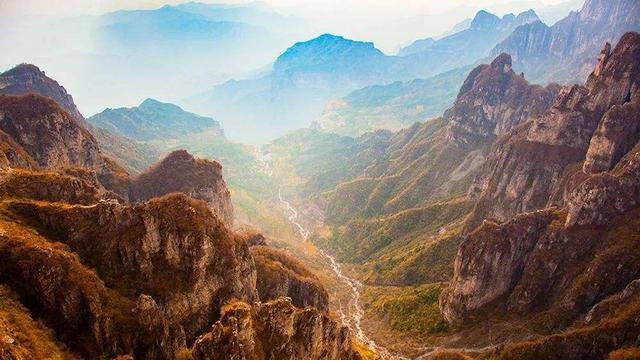
[[[88,130],[58,104],[40,95],[0,95],[0,130],[44,169],[100,169],[103,160]]]

